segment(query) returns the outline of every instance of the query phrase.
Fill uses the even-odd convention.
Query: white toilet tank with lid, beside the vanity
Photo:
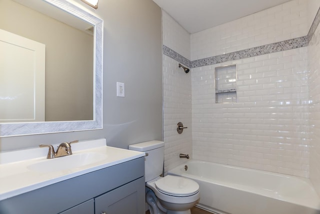
[[[162,174],[164,158],[164,142],[158,140],[146,141],[129,145],[130,150],[145,152],[144,176],[145,182]]]

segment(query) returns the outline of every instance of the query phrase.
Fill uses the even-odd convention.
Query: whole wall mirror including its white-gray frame
[[[1,8],[14,4],[18,7],[17,11],[4,8],[6,15],[0,12],[0,55],[6,56],[2,57],[0,64],[10,65],[2,66],[6,70],[0,66],[0,137],[101,129],[103,21],[65,0],[1,0],[0,4]],[[36,11],[34,20],[21,24],[18,18],[26,19],[22,15],[28,8]],[[27,19],[32,16],[28,15]],[[21,33],[22,36],[19,30],[11,30],[11,26],[17,26],[15,19],[22,28],[25,26],[26,33]],[[51,23],[42,23],[43,20],[51,20]],[[5,36],[7,34],[9,36]],[[33,46],[25,48],[21,45],[23,50],[31,50],[30,57],[25,51],[17,54],[13,51],[20,46],[15,44],[13,51],[10,47],[3,51],[3,47],[15,37],[19,44],[24,38],[29,44],[31,38],[31,42],[40,44],[39,51]],[[50,37],[52,40],[48,41]],[[6,42],[5,38],[9,38],[10,42]],[[60,41],[56,40],[58,38]],[[38,58],[38,55],[43,57]],[[20,60],[28,58],[31,60],[25,64]],[[40,62],[40,65],[34,66],[34,62]],[[16,73],[22,69],[22,73]],[[42,74],[38,75],[38,70]],[[18,79],[22,82],[16,82]],[[3,87],[5,84],[7,87]],[[24,85],[26,89],[19,89]],[[31,98],[26,99],[24,94],[28,91]],[[12,102],[11,107],[1,109],[7,105],[3,104],[4,100],[12,101],[17,97],[23,98],[20,104]],[[21,110],[14,111],[18,107]],[[6,113],[10,110],[12,113]],[[20,116],[22,110],[25,110],[28,119]]]

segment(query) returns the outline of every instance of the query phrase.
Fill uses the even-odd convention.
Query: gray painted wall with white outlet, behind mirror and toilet
[[[162,140],[160,8],[151,0],[108,0],[92,12],[104,21],[103,129],[2,137],[0,151],[73,139],[106,138],[120,148]],[[116,82],[124,83],[124,98],[116,97]]]

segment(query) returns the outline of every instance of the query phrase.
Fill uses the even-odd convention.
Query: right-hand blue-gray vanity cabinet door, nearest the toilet
[[[144,176],[94,198],[95,214],[144,214]]]

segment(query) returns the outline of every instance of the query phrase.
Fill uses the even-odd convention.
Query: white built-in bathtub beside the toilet
[[[195,180],[200,186],[197,206],[213,213],[320,213],[320,198],[306,178],[199,160],[188,160],[168,174]]]

